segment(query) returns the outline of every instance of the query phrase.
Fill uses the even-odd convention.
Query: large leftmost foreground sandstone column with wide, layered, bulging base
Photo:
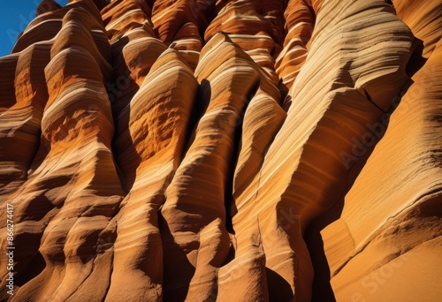
[[[16,209],[17,244],[26,238],[33,249],[42,238],[45,267],[14,300],[99,300],[107,291],[110,239],[102,231],[123,192],[110,151],[113,122],[103,85],[110,64],[102,53],[110,48],[97,48],[101,36],[101,20],[73,8],[50,50],[42,161],[34,162],[27,182],[9,200]]]

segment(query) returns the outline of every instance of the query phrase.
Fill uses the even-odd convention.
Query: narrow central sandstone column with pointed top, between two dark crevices
[[[224,34],[217,34],[202,49],[195,71],[201,84],[197,106],[202,106],[202,117],[161,209],[164,299],[217,296],[217,268],[230,249],[225,190],[231,181],[235,132],[259,79],[252,66],[250,57]]]

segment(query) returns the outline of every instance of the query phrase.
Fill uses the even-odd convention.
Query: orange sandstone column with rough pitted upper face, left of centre
[[[120,114],[129,125],[119,140],[132,140],[141,163],[115,217],[113,272],[106,301],[161,301],[163,246],[157,212],[178,168],[198,83],[174,49],[158,57],[140,90]]]

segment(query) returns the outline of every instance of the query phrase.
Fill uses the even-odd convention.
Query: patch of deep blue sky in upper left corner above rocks
[[[35,18],[42,0],[0,0],[0,57],[9,55],[19,34]],[[67,0],[56,0],[65,6]]]

